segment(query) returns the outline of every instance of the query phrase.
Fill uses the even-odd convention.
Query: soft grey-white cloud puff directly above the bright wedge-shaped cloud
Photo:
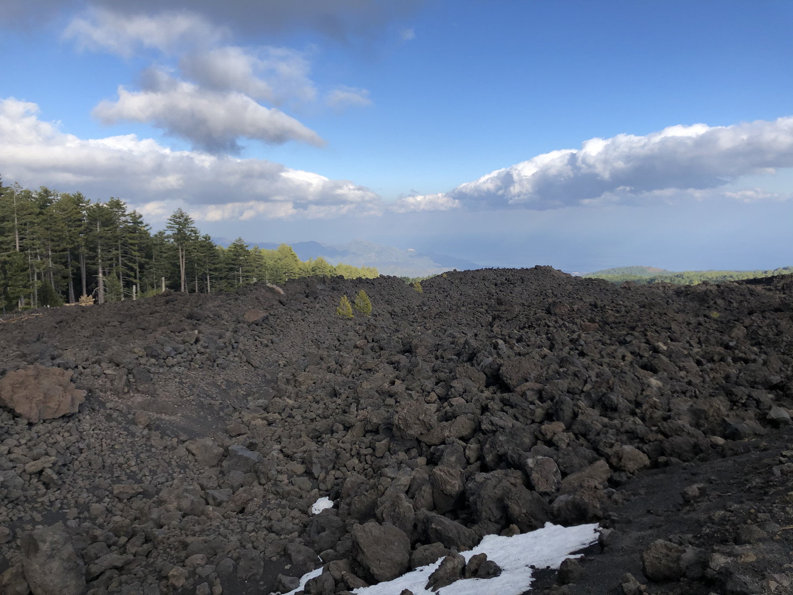
[[[239,91],[275,105],[316,98],[308,59],[290,48],[225,46],[190,52],[179,59],[179,69],[207,89]]]

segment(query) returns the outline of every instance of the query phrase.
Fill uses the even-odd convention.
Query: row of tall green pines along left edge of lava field
[[[92,202],[79,192],[3,186],[0,178],[0,302],[3,311],[137,299],[166,289],[233,290],[257,281],[283,283],[311,275],[374,278],[374,267],[301,261],[287,244],[224,248],[202,234],[182,209],[151,231],[120,198]],[[90,301],[90,299],[89,299]]]

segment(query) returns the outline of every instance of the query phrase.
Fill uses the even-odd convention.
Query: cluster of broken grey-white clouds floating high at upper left
[[[123,8],[88,10],[75,17],[63,35],[79,48],[120,56],[154,49],[174,67],[144,71],[140,91],[120,86],[117,101],[102,102],[94,109],[102,122],[154,125],[213,152],[238,152],[240,137],[276,144],[288,140],[324,144],[293,117],[260,105],[266,102],[285,109],[316,102],[305,52],[230,44],[228,29],[188,10],[128,14]],[[166,73],[176,70],[175,62],[178,79]],[[337,86],[325,94],[325,104],[337,112],[368,106],[368,94],[365,89]]]

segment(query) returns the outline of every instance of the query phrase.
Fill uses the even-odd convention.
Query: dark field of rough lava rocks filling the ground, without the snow
[[[343,593],[443,556],[454,580],[549,520],[600,543],[532,593],[793,593],[793,278],[422,285],[0,322],[0,593],[285,592],[319,566],[306,592]],[[358,290],[371,316],[338,317]]]

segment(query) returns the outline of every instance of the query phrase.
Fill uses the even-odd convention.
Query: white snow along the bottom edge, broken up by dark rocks
[[[580,524],[577,527],[561,527],[546,523],[542,529],[523,533],[523,535],[485,536],[477,547],[471,551],[462,552],[462,555],[467,562],[473,555],[487,554],[488,560],[501,566],[501,575],[487,579],[461,579],[442,587],[437,594],[424,589],[424,586],[427,585],[430,574],[440,566],[440,560],[434,564],[416,568],[393,581],[355,589],[353,593],[356,595],[400,595],[403,589],[409,589],[414,595],[520,595],[530,589],[533,580],[531,566],[557,569],[565,559],[577,558],[578,556],[570,554],[596,543],[599,536],[597,528],[596,523]],[[322,574],[321,568],[305,574],[301,578],[300,589],[309,578],[320,574]],[[294,595],[300,589],[290,591],[286,595]]]

